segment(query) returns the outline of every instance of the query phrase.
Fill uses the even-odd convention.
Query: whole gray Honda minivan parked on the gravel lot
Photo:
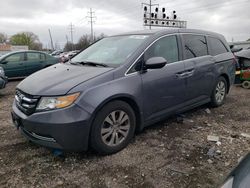
[[[12,118],[31,141],[102,154],[135,131],[199,105],[224,103],[235,59],[220,34],[147,30],[104,38],[16,89]]]

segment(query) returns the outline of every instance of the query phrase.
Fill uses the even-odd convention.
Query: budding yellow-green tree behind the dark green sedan
[[[10,38],[12,45],[27,45],[30,50],[41,50],[42,44],[37,35],[32,32],[17,33]]]

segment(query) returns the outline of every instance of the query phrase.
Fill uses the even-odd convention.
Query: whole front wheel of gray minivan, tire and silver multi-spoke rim
[[[116,153],[125,148],[135,133],[136,118],[133,109],[123,101],[106,104],[92,124],[90,146],[99,154]]]

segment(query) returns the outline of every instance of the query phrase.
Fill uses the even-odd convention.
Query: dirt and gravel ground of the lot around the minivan
[[[12,126],[17,84],[0,91],[0,187],[217,187],[250,149],[241,135],[250,133],[250,91],[233,87],[224,106],[203,106],[185,113],[183,122],[173,117],[151,126],[115,155],[57,157]]]

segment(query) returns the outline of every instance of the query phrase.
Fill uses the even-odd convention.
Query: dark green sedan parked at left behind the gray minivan
[[[11,52],[0,57],[0,66],[8,78],[26,77],[58,62],[58,58],[31,50]]]

